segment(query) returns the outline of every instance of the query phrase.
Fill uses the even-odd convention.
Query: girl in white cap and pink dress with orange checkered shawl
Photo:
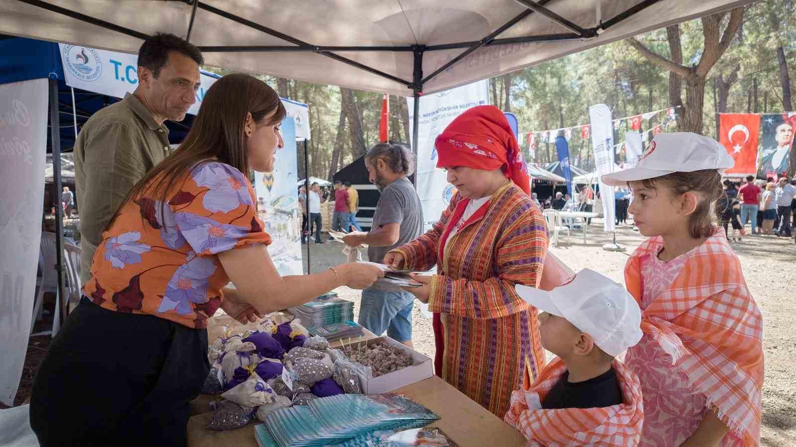
[[[644,332],[625,357],[642,383],[640,445],[759,445],[763,321],[711,220],[733,164],[712,138],[658,134],[633,169],[603,176],[630,186],[650,238],[625,267]]]

